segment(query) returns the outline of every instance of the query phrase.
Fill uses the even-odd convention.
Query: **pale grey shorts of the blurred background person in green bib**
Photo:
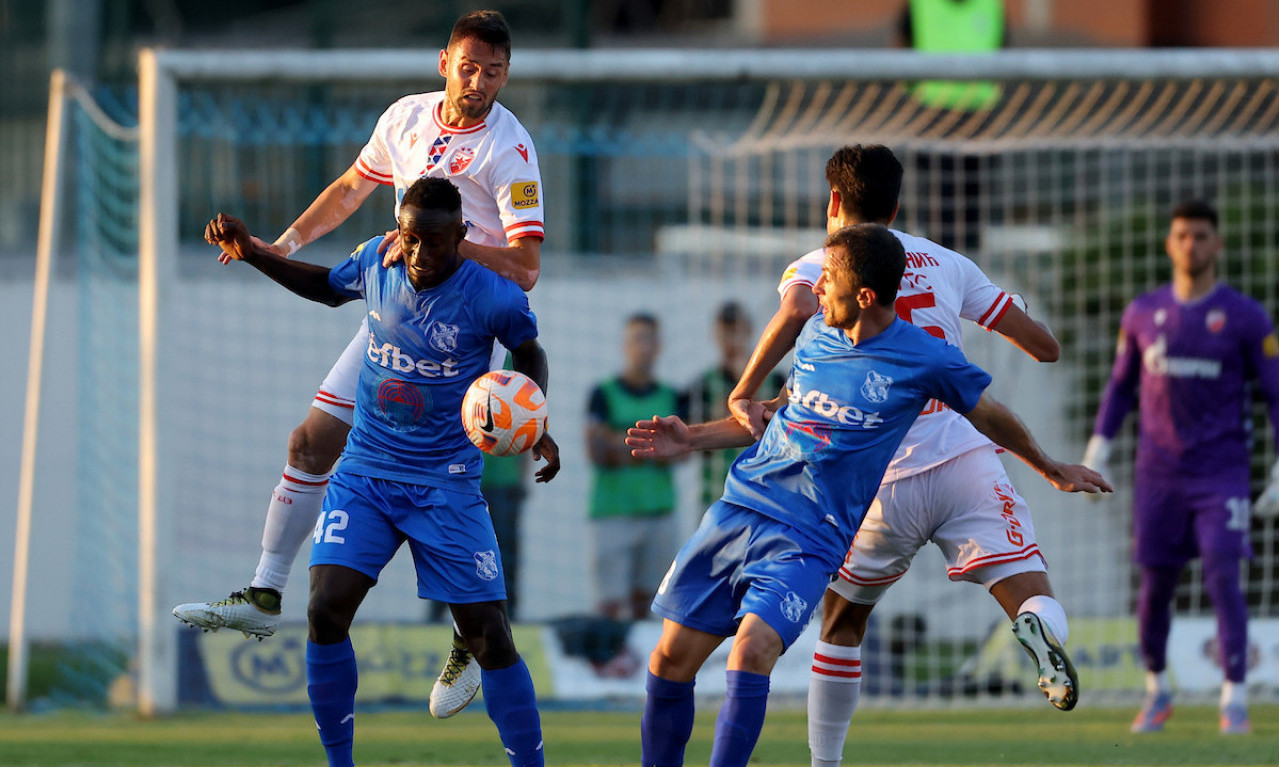
[[[679,550],[675,515],[605,516],[591,520],[591,570],[599,603],[625,603],[655,594]]]

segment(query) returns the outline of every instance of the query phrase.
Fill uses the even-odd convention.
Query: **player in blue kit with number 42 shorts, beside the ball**
[[[501,557],[480,495],[480,451],[462,427],[462,399],[489,371],[494,344],[546,387],[546,353],[518,285],[463,258],[462,198],[446,179],[421,178],[400,202],[403,267],[361,245],[334,268],[286,260],[237,219],[219,215],[205,239],[298,295],[340,306],[363,298],[368,346],[354,423],[325,495],[311,550],[307,692],[330,767],[349,767],[356,655],[349,628],[361,601],[408,541],[418,596],[446,602],[481,667],[485,707],[513,766],[544,764],[528,667],[506,619]],[[545,435],[536,479],[560,468]]]

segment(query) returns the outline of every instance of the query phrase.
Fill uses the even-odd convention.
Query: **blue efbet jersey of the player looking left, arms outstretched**
[[[989,385],[963,352],[909,322],[854,346],[819,313],[796,343],[790,401],[734,461],[724,500],[834,537],[843,556],[920,410],[938,399],[967,413]]]

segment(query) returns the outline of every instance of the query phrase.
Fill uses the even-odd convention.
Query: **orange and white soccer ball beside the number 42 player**
[[[489,455],[523,453],[546,432],[546,395],[515,371],[490,371],[462,399],[462,426]]]

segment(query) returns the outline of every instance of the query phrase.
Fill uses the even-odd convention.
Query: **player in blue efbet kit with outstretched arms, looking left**
[[[894,299],[906,251],[884,226],[826,239],[813,285],[822,313],[803,327],[788,400],[729,470],[654,600],[665,621],[648,660],[643,767],[682,764],[693,725],[693,680],[726,637],[728,693],[711,767],[744,766],[758,739],[778,657],[803,631],[875,499],[898,444],[930,399],[967,417],[1056,487],[1109,490],[1100,474],[1049,459],[990,376],[941,339],[902,321]],[[631,430],[636,455],[666,458],[749,442],[728,418],[686,426],[655,418]]]

